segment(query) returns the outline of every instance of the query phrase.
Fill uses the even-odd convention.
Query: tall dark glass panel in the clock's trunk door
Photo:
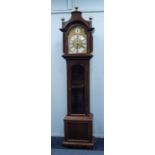
[[[71,104],[72,114],[85,113],[84,66],[74,65],[71,68]]]

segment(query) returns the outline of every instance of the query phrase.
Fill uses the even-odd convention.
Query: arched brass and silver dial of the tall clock
[[[87,35],[83,27],[72,28],[68,35],[69,54],[80,54],[87,52]]]

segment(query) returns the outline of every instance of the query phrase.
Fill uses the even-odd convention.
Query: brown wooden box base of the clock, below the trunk
[[[76,148],[93,148],[92,136],[93,115],[66,116],[64,119],[64,146]]]

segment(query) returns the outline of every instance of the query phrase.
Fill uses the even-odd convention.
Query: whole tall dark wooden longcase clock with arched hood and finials
[[[93,115],[90,113],[90,59],[92,18],[85,20],[76,7],[68,21],[62,19],[63,57],[67,64],[67,115],[64,146],[93,148]]]

